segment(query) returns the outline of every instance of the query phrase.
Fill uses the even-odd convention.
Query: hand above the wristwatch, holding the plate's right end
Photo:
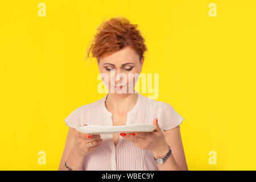
[[[155,154],[168,151],[168,144],[164,138],[163,131],[158,125],[157,118],[154,119],[153,124],[156,126],[156,129],[152,132],[121,133],[120,135],[133,142],[139,148],[151,150]]]

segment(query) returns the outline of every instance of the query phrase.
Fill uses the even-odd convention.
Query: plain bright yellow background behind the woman
[[[38,16],[40,2],[46,17]],[[142,72],[159,73],[157,100],[184,118],[189,170],[255,170],[255,7],[228,0],[2,2],[0,169],[58,169],[64,118],[105,96],[97,92],[95,59],[84,61],[86,48],[104,19],[125,16],[146,39]]]

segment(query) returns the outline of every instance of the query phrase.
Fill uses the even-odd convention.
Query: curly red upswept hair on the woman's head
[[[96,57],[99,62],[102,57],[130,46],[138,53],[139,61],[141,61],[147,47],[137,27],[138,24],[131,24],[127,18],[123,17],[111,18],[103,22],[97,28],[98,32],[89,45],[90,48],[86,57],[89,57],[90,52],[92,52],[92,57]]]

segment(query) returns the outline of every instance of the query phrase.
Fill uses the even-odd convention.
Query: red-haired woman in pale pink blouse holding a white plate
[[[137,24],[126,18],[102,23],[88,56],[90,51],[97,58],[109,93],[64,119],[69,131],[59,170],[187,170],[179,126],[184,118],[166,102],[149,99],[134,90],[138,77],[130,76],[141,73],[147,51]],[[153,124],[156,129],[121,133],[121,137],[77,131],[83,125],[139,123]]]

